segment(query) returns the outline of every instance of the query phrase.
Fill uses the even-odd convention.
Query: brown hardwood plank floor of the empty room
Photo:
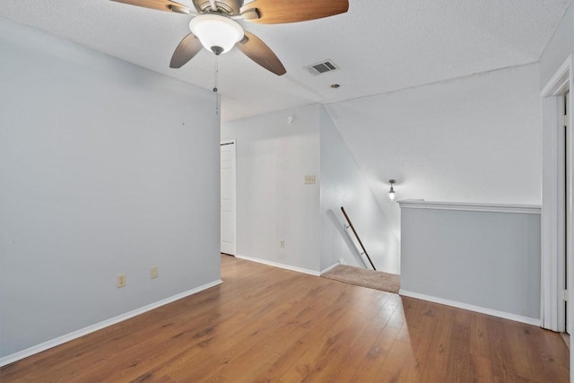
[[[569,381],[561,335],[536,326],[228,256],[222,279],[0,381]]]

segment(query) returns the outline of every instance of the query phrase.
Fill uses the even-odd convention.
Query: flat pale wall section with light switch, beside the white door
[[[319,271],[318,109],[222,123],[222,140],[237,139],[239,256]],[[315,175],[316,183],[305,185],[305,175]]]

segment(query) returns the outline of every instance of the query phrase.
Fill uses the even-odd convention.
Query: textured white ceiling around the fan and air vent
[[[190,1],[181,3],[190,4]],[[355,99],[538,61],[570,0],[350,0],[349,12],[282,25],[241,22],[274,50],[278,77],[237,49],[219,60],[222,118]],[[169,63],[188,15],[108,0],[0,0],[0,15],[205,89],[213,55]],[[341,70],[312,76],[330,58]],[[334,90],[331,83],[340,83]]]

